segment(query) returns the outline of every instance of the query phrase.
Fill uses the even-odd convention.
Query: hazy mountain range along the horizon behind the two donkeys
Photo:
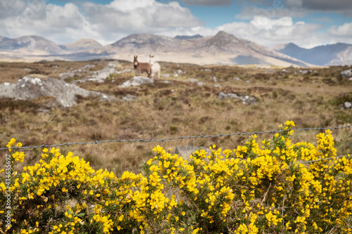
[[[141,62],[154,54],[158,60],[174,63],[225,65],[344,65],[352,63],[352,45],[335,44],[311,49],[295,44],[268,48],[253,41],[234,37],[227,32],[203,37],[165,37],[153,34],[131,34],[113,44],[102,46],[93,39],[80,39],[57,45],[39,36],[16,39],[0,37],[0,58],[28,58],[29,60],[89,60],[115,58],[132,60],[139,55]]]

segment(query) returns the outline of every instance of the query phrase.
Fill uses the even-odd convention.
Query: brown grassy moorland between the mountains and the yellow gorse
[[[1,63],[0,82],[15,83],[26,74],[44,74],[58,78],[70,67],[77,69],[94,64],[103,68],[108,61],[53,61],[41,63]],[[121,99],[127,94],[132,101],[101,102],[94,98],[78,98],[72,108],[50,108],[41,100],[0,100],[0,145],[11,138],[24,146],[68,142],[91,142],[94,139],[163,139],[177,136],[216,135],[237,132],[269,131],[292,120],[295,128],[346,126],[352,124],[352,109],[341,106],[352,101],[352,82],[341,77],[347,67],[298,68],[255,66],[199,66],[161,63],[161,77],[154,84],[120,88],[119,84],[134,72],[112,74],[105,82],[79,84],[84,89],[100,91]],[[24,68],[30,68],[31,71]],[[132,68],[120,61],[118,70]],[[184,74],[173,74],[182,70]],[[210,71],[209,71],[210,70]],[[301,69],[303,70],[303,69]],[[210,79],[216,77],[217,82]],[[239,77],[241,80],[233,79]],[[189,82],[198,79],[205,85]],[[168,80],[165,84],[163,81]],[[220,86],[215,86],[220,84]],[[238,99],[218,99],[218,93],[248,93],[256,103],[244,105]],[[319,131],[296,131],[292,141],[314,142]],[[333,130],[338,155],[351,153],[352,129]],[[271,136],[271,135],[270,135]],[[164,148],[177,145],[234,149],[248,135],[192,138],[161,143]],[[258,138],[265,137],[259,134]],[[72,151],[91,162],[94,169],[107,168],[120,175],[122,171],[138,171],[139,165],[153,155],[157,143],[102,143],[61,147],[63,154]],[[37,162],[41,149],[26,150],[25,164]],[[1,160],[5,151],[0,152]],[[4,162],[4,161],[3,161]]]

